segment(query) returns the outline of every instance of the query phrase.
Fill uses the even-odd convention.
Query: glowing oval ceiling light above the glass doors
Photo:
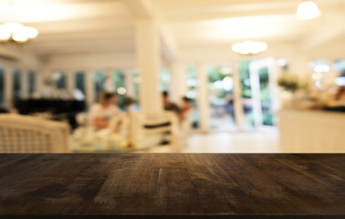
[[[267,44],[264,42],[246,41],[233,45],[233,51],[241,55],[256,55],[267,50]]]

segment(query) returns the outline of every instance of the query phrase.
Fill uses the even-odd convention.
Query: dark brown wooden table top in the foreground
[[[0,218],[345,218],[344,165],[345,154],[0,154]]]

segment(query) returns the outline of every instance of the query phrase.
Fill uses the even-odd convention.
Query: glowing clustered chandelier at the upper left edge
[[[15,22],[0,24],[0,42],[25,43],[36,38],[37,35],[37,29],[31,26],[24,26]]]

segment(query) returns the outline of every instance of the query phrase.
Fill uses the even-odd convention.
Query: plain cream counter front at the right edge
[[[280,110],[283,152],[344,152],[345,114],[322,110]]]

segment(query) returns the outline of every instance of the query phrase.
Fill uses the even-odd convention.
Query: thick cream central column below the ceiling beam
[[[161,49],[157,24],[152,19],[137,20],[136,55],[141,72],[141,110],[146,114],[162,111],[160,92]]]

